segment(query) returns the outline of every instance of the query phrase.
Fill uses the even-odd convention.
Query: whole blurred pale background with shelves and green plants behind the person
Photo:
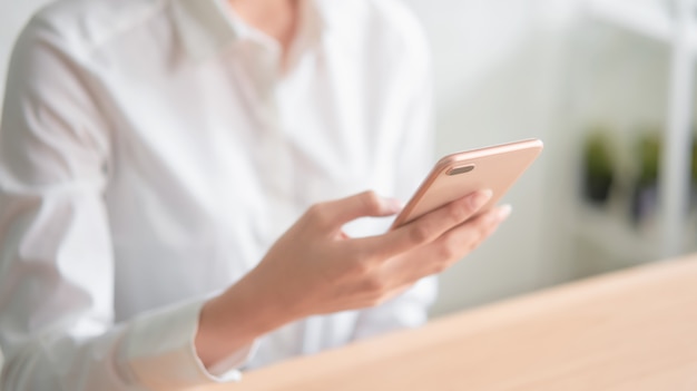
[[[697,247],[690,1],[404,1],[432,45],[436,154],[546,144],[433,316]],[[0,0],[0,74],[47,2]]]

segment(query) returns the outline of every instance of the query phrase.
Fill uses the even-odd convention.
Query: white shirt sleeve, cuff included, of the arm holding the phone
[[[227,373],[210,373],[196,355],[204,299],[114,322],[109,125],[92,70],[68,41],[35,19],[10,65],[0,123],[0,389],[179,390],[236,380],[249,348],[226,361]]]

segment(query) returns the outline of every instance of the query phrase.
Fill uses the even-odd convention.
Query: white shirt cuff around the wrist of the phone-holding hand
[[[244,365],[256,343],[230,354],[206,370],[194,339],[205,300],[187,302],[134,320],[126,333],[126,361],[136,379],[153,390],[179,390],[242,380]]]

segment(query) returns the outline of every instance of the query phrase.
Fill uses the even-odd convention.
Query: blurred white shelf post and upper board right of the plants
[[[662,41],[670,48],[669,107],[659,174],[661,233],[657,235],[660,236],[657,243],[660,257],[678,255],[687,250],[679,242],[687,223],[681,211],[688,205],[685,195],[689,190],[685,182],[689,157],[684,146],[691,143],[691,86],[697,53],[695,1],[587,0],[586,6],[591,18]]]

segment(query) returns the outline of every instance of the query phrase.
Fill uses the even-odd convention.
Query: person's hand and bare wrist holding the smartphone
[[[372,192],[312,206],[237,284],[208,302],[196,348],[214,363],[292,321],[377,305],[462,258],[510,207],[471,218],[491,197],[475,192],[383,235],[350,238],[342,226],[399,212]],[[226,341],[222,343],[222,341]],[[208,354],[210,353],[210,354]]]

